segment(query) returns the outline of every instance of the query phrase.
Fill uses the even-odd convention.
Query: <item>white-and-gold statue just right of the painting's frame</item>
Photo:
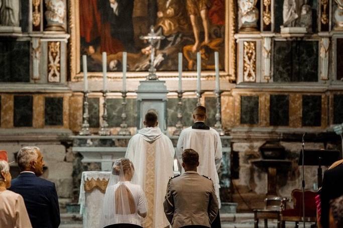
[[[242,26],[240,31],[256,31],[259,20],[259,10],[256,8],[257,0],[239,0],[238,6]]]

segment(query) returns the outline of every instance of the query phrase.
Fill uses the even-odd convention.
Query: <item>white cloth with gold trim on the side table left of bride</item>
[[[80,215],[83,217],[83,228],[99,227],[103,198],[110,172],[82,172],[80,184]],[[85,183],[87,184],[85,189]]]

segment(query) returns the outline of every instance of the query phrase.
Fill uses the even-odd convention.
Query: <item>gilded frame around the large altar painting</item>
[[[69,11],[69,31],[70,40],[69,44],[69,73],[71,81],[77,82],[83,79],[83,73],[80,68],[80,2],[82,0],[68,1],[68,11]],[[236,40],[235,40],[235,30],[236,30],[236,0],[224,0],[225,2],[225,38],[224,38],[224,63],[225,70],[224,74],[220,74],[220,77],[224,80],[235,81],[236,80]],[[177,72],[170,74],[170,72],[159,72],[160,78],[176,78]],[[109,80],[122,79],[122,72],[108,72],[107,78]],[[135,74],[128,74],[127,77],[132,79],[145,79],[146,72],[135,72]],[[185,78],[196,78],[196,72],[191,72],[191,74],[184,75]],[[205,80],[213,80],[215,77],[213,75],[208,75],[204,77]],[[101,79],[102,72],[88,72],[88,78]]]

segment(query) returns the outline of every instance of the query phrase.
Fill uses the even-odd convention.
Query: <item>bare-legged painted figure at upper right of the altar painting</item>
[[[209,21],[207,12],[208,9],[211,7],[211,2],[209,0],[187,0],[187,11],[190,18],[190,22],[193,27],[194,33],[194,44],[192,47],[192,51],[196,52],[200,47],[200,29],[199,24],[197,22],[197,18],[200,16],[202,21],[202,26],[204,29],[204,41],[203,44],[209,43]]]

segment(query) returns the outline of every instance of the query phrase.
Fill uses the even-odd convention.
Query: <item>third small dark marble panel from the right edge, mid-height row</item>
[[[289,125],[289,96],[270,95],[270,125]]]

